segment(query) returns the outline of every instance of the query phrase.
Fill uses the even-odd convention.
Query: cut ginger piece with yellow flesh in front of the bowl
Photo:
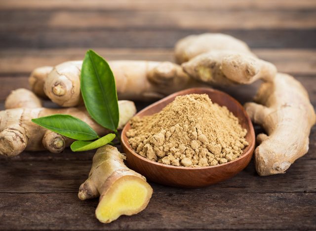
[[[125,156],[113,146],[99,148],[89,177],[79,188],[80,200],[100,196],[95,215],[102,223],[141,212],[153,193],[145,177],[127,168],[123,159]]]

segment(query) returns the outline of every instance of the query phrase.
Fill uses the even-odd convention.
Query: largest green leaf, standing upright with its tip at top
[[[115,78],[109,64],[93,50],[85,54],[80,89],[90,116],[101,126],[116,131],[119,115]]]

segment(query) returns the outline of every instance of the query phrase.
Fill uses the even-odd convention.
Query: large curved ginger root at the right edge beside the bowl
[[[259,104],[246,103],[245,109],[267,132],[257,136],[256,170],[260,176],[285,173],[309,149],[316,115],[308,93],[294,77],[278,73],[261,84],[254,100]]]

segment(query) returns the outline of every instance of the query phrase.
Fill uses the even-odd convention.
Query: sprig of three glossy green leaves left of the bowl
[[[118,134],[119,113],[115,78],[109,64],[93,50],[87,51],[82,63],[80,90],[89,115],[101,126]],[[115,138],[115,134],[100,138],[87,123],[70,115],[56,114],[32,121],[77,140],[71,145],[73,152],[96,149]]]

